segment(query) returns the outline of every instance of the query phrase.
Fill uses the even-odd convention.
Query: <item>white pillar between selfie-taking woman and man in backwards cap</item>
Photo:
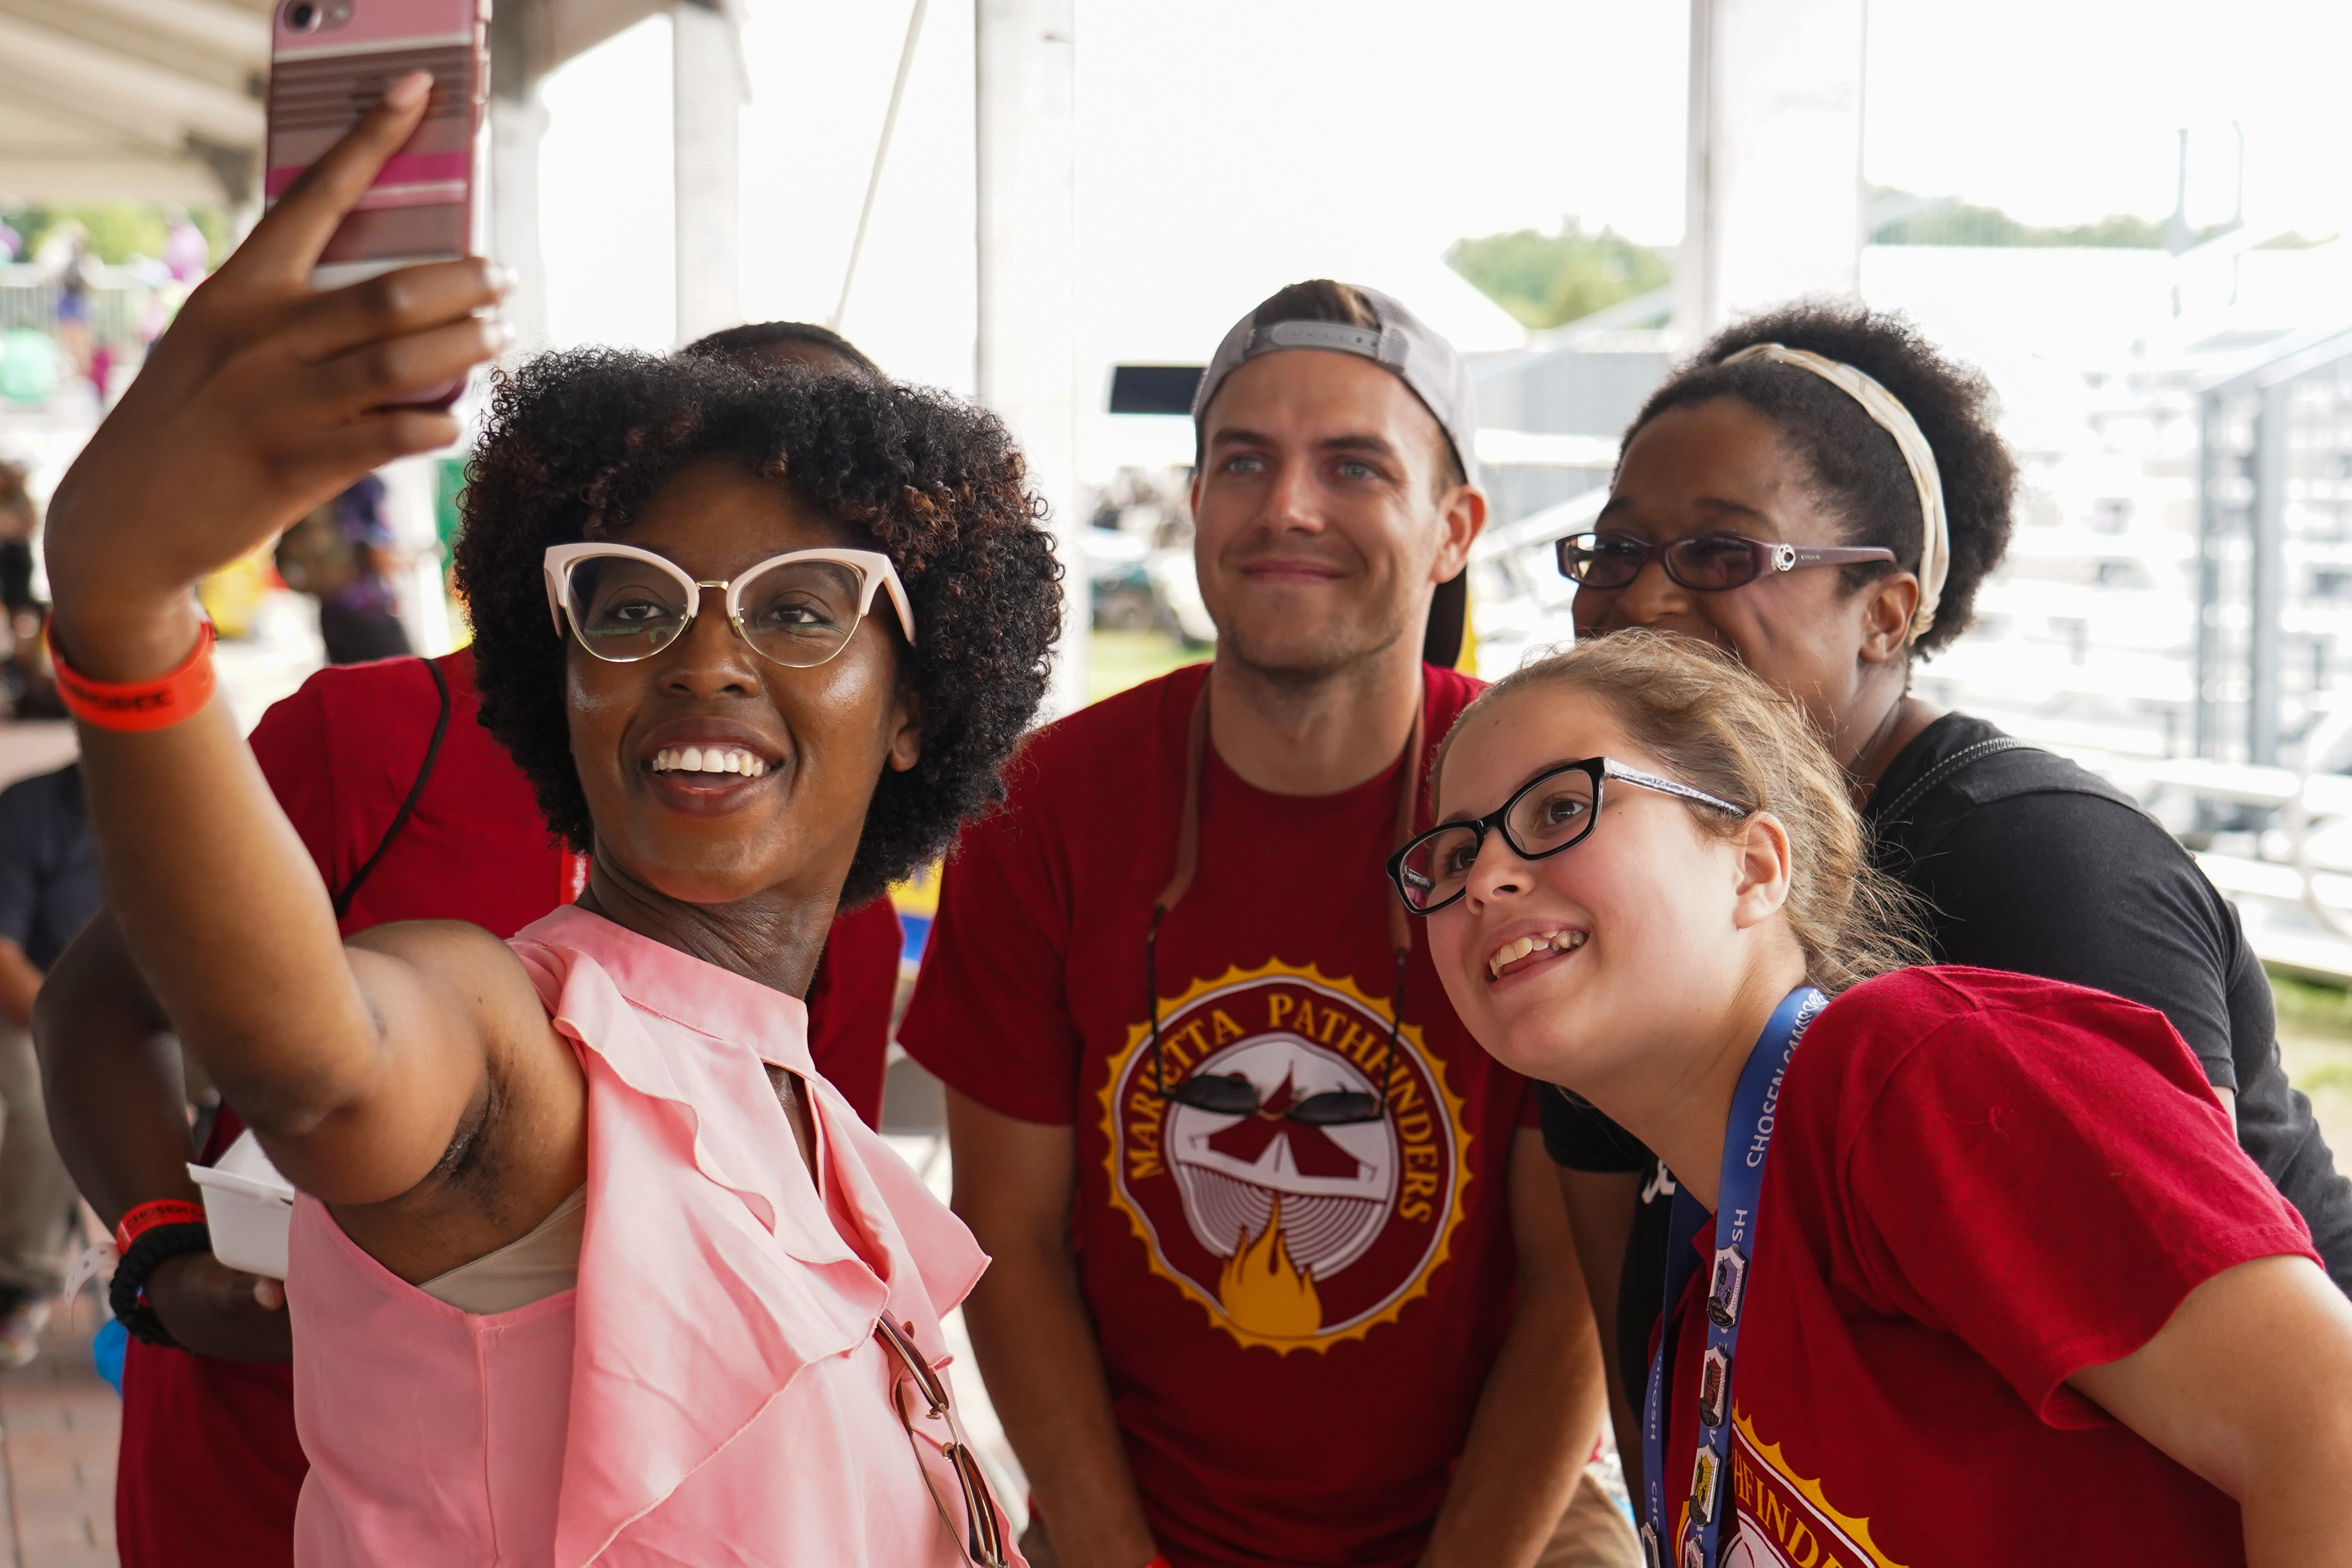
[[[1075,0],[974,0],[978,395],[1028,454],[1061,541],[1051,712],[1087,701],[1091,595],[1077,529]]]

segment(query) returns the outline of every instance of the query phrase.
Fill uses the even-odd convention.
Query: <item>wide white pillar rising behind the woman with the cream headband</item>
[[[1675,322],[1689,341],[1860,273],[1867,0],[1691,0]]]

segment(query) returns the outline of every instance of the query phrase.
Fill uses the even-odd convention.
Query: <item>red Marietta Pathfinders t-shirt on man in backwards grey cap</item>
[[[1402,1566],[1510,1326],[1526,1079],[1470,1039],[1416,933],[1388,1119],[1315,1128],[1152,1093],[1143,933],[1204,679],[1178,670],[1021,750],[1011,802],[948,860],[898,1039],[981,1105],[1073,1126],[1080,1286],[1169,1559]],[[1421,769],[1475,691],[1428,670]],[[1268,795],[1211,748],[1200,872],[1160,929],[1169,1081],[1240,1072],[1270,1107],[1374,1088],[1397,788],[1390,769]]]

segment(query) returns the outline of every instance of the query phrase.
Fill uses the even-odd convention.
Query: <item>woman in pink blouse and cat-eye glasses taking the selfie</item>
[[[985,1260],[800,1004],[835,905],[946,846],[1042,696],[1058,569],[1004,430],[708,360],[501,383],[456,562],[482,724],[590,856],[513,943],[341,943],[209,701],[188,585],[447,444],[419,404],[503,343],[477,261],[308,287],[426,85],[188,301],[52,524],[122,938],[301,1190],[296,1563],[1016,1561],[941,1371]],[[122,1269],[200,1220],[132,1211]]]

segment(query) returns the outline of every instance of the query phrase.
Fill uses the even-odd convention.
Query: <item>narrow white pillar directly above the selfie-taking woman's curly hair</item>
[[[670,7],[673,155],[677,160],[677,341],[743,320],[743,61],[734,16]]]

